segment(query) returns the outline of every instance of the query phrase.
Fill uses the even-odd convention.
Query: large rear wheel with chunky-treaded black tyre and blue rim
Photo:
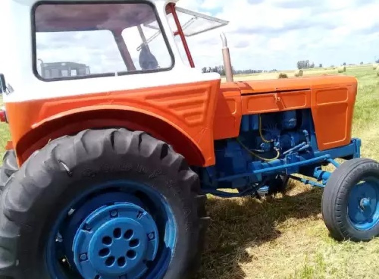
[[[125,129],[51,141],[8,181],[0,278],[178,279],[199,263],[199,180],[168,144]]]

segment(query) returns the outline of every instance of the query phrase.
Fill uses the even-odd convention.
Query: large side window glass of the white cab
[[[173,67],[165,32],[154,5],[147,1],[42,2],[34,8],[33,21],[35,71],[41,79],[124,75]],[[155,39],[148,42],[146,38],[153,35]]]

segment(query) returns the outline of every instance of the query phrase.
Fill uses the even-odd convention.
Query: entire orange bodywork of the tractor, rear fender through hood
[[[91,128],[125,127],[162,139],[189,164],[215,163],[214,140],[239,135],[243,115],[311,109],[320,150],[350,143],[357,80],[321,76],[219,80],[6,103],[19,164],[50,139]],[[19,112],[22,112],[20,114]]]

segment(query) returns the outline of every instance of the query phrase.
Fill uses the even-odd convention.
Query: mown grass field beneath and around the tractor
[[[293,71],[292,71],[293,72]],[[288,72],[291,76],[291,72]],[[305,75],[337,73],[312,70]],[[363,139],[363,156],[379,159],[379,78],[372,67],[348,67],[359,80],[353,135]],[[236,76],[235,80],[276,78],[278,73]],[[0,125],[0,146],[9,139]],[[321,216],[322,190],[291,183],[286,196],[211,197],[212,218],[199,279],[378,278],[379,239],[338,243]]]

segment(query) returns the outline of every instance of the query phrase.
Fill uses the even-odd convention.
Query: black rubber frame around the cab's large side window
[[[99,73],[99,74],[93,74],[91,73],[88,76],[67,76],[67,77],[60,77],[60,78],[51,78],[46,79],[43,78],[38,74],[38,63],[37,63],[37,40],[36,40],[36,26],[35,26],[35,11],[38,6],[45,5],[45,4],[129,4],[129,3],[141,3],[141,4],[148,4],[151,6],[151,8],[154,11],[154,15],[156,16],[156,20],[158,23],[158,26],[161,29],[161,34],[163,36],[163,39],[166,43],[167,49],[169,51],[169,55],[171,58],[171,66],[167,68],[159,68],[159,69],[152,69],[152,70],[136,70],[136,71],[122,71],[122,72],[115,72],[115,73]],[[148,73],[157,73],[157,72],[168,72],[171,71],[175,64],[175,55],[171,48],[169,39],[166,34],[166,30],[162,24],[161,17],[157,11],[157,7],[148,0],[75,0],[75,1],[56,1],[56,0],[41,0],[38,2],[35,2],[31,8],[31,41],[32,41],[32,68],[33,68],[33,74],[34,76],[44,82],[54,82],[54,81],[67,81],[67,80],[79,80],[79,79],[90,79],[90,78],[99,78],[99,77],[115,77],[115,76],[127,76],[127,75],[137,75],[137,74],[148,74]],[[125,42],[126,43],[126,42]],[[87,65],[88,66],[88,65]]]

